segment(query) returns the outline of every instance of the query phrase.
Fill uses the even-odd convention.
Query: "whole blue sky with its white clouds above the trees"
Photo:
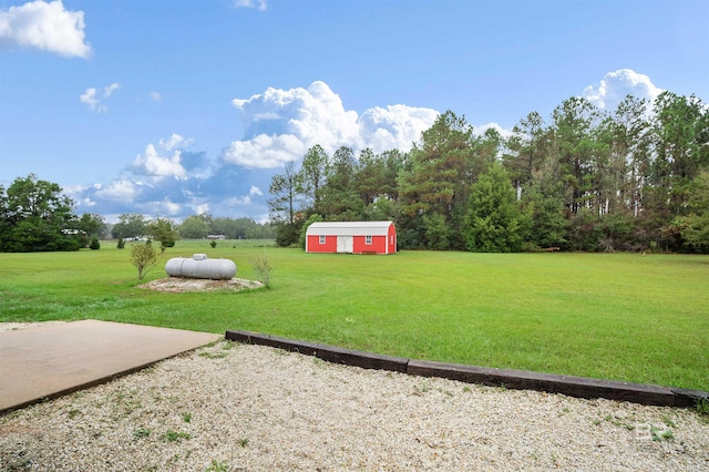
[[[268,219],[320,144],[409,151],[446,110],[503,134],[564,100],[709,102],[705,0],[0,0],[0,185],[75,213]]]

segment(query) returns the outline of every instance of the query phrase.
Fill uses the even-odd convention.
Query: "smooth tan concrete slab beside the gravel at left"
[[[0,334],[0,413],[107,381],[223,335],[82,320]]]

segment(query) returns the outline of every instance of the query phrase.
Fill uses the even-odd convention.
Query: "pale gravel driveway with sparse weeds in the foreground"
[[[0,417],[2,471],[549,469],[709,470],[709,418],[226,340]]]

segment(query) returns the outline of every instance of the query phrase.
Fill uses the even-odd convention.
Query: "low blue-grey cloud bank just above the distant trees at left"
[[[109,222],[123,213],[179,219],[205,212],[265,220],[261,188],[270,185],[270,174],[209,160],[205,152],[189,151],[193,145],[194,140],[173,133],[148,143],[111,182],[66,192],[78,213],[97,213]]]

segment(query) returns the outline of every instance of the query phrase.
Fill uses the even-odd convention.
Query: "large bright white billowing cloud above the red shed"
[[[232,103],[242,113],[244,140],[225,148],[223,158],[251,168],[278,167],[302,157],[316,144],[328,153],[340,146],[356,152],[364,147],[409,151],[439,115],[431,109],[390,105],[366,110],[358,117],[320,81],[308,89],[269,88]]]

